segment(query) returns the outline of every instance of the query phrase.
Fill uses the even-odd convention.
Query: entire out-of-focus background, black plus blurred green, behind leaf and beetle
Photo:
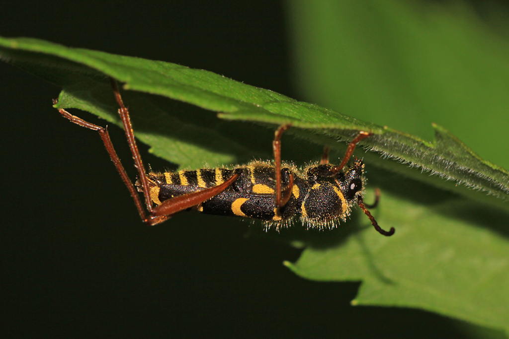
[[[3,5],[0,34],[206,69],[428,140],[436,122],[509,168],[503,4],[25,2]],[[417,310],[352,307],[359,283],[298,278],[281,262],[299,251],[245,239],[245,222],[181,213],[145,228],[99,138],[51,107],[58,88],[3,63],[0,72],[11,336],[498,334]],[[122,133],[110,133],[129,159]],[[154,169],[168,166],[143,152]]]

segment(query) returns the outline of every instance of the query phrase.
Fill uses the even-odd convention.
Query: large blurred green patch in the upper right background
[[[509,168],[505,3],[317,0],[287,8],[306,101],[427,140],[435,122]]]

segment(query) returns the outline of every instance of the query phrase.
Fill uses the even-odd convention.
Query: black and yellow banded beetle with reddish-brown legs
[[[111,79],[115,98],[120,106],[127,141],[135,166],[139,173],[137,190],[143,193],[146,213],[136,189],[127,176],[105,128],[71,115],[63,109],[59,112],[75,124],[99,132],[106,150],[119,171],[142,220],[148,225],[159,224],[173,214],[186,209],[218,215],[236,215],[266,222],[267,228],[277,229],[291,225],[299,217],[308,228],[332,228],[338,220],[345,220],[352,206],[358,204],[378,232],[390,236],[381,229],[364,205],[364,164],[355,159],[345,168],[357,143],[369,137],[360,132],[350,142],[340,165],[331,165],[328,152],[320,163],[308,166],[303,171],[281,164],[281,135],[290,124],[280,126],[274,137],[274,162],[251,162],[245,166],[228,168],[206,168],[182,170],[175,173],[148,173],[134,139],[129,112],[124,106],[115,80]],[[56,103],[56,101],[55,101]],[[379,198],[377,190],[375,204]]]

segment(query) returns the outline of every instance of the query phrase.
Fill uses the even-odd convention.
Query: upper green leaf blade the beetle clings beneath
[[[224,119],[250,120],[274,125],[291,122],[295,127],[292,133],[321,144],[328,144],[332,148],[337,148],[338,139],[353,139],[361,130],[370,132],[374,136],[368,138],[363,144],[370,146],[372,150],[486,191],[506,201],[509,197],[509,172],[480,159],[472,150],[438,126],[435,126],[437,141],[431,143],[388,127],[366,124],[318,105],[298,102],[270,90],[249,86],[211,72],[193,70],[163,61],[66,48],[34,39],[2,39],[0,46],[4,46],[0,50],[3,58],[64,87],[57,106],[60,108],[86,109],[118,124],[114,103],[112,100],[109,100],[109,104],[103,102],[106,98],[101,95],[107,94],[107,90],[103,85],[105,82],[97,76],[105,74],[124,83],[125,89],[156,94],[221,112],[219,116]],[[45,55],[36,56],[37,54],[31,52],[40,52]],[[41,66],[43,70],[40,70]],[[67,72],[63,73],[65,70]],[[93,98],[90,93],[93,93]],[[87,105],[89,100],[93,100],[93,106]],[[150,105],[149,102],[146,99],[143,101],[145,110],[148,109],[150,114],[154,115],[147,115],[146,121],[156,118],[164,121],[160,119],[163,116],[161,110],[156,108],[157,112],[152,112],[153,107],[147,107]],[[135,111],[136,103],[133,99],[131,110]],[[140,107],[139,110],[144,109]],[[137,117],[135,114],[133,116]],[[192,124],[192,122],[189,123]],[[182,134],[179,136],[168,137],[163,143],[153,144],[152,151],[173,162],[196,165],[192,163],[195,152],[186,153],[192,150],[191,143],[188,142],[180,145],[183,151],[178,156],[176,153],[173,153],[175,157],[164,156],[165,149],[168,149],[176,139],[187,135],[185,128],[182,131],[180,126],[176,125],[175,119],[168,121],[167,124],[163,126],[164,129],[145,134],[144,129],[150,128],[149,124],[139,122],[137,125],[142,131],[139,135],[140,140],[150,143],[154,141],[155,135],[165,134],[166,128],[180,131]],[[315,135],[301,129],[313,130]],[[210,133],[210,137],[214,137],[213,131]],[[217,141],[218,148],[221,144],[225,144],[237,147],[237,152],[244,151],[238,148],[238,145],[226,142],[227,140],[224,139],[205,139]],[[228,150],[225,150],[225,153],[228,153]],[[190,156],[186,157],[186,154]],[[210,165],[232,160],[226,156],[221,157],[219,150],[210,156]],[[370,161],[377,160],[371,157]],[[384,166],[384,162],[377,162]],[[399,168],[404,173],[408,172],[403,166]]]

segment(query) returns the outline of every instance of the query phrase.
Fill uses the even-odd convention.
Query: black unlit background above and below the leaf
[[[299,99],[284,4],[69,4],[3,5],[0,35],[171,61]],[[3,333],[464,336],[465,324],[438,315],[350,306],[359,283],[298,278],[282,261],[300,251],[245,238],[249,223],[181,213],[145,227],[98,136],[51,107],[58,94],[0,64]],[[129,159],[122,132],[110,133]],[[168,166],[142,150],[153,168]]]

